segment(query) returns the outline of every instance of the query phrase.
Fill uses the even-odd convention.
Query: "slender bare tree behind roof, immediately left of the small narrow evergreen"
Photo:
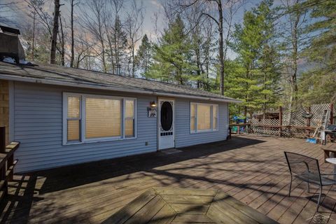
[[[144,7],[137,5],[137,1],[132,1],[131,12],[127,13],[125,27],[129,39],[130,57],[129,64],[132,64],[132,71],[129,72],[132,77],[135,74],[135,46],[141,39],[142,25],[144,23]],[[128,66],[130,67],[130,66]],[[130,69],[129,69],[130,70]]]

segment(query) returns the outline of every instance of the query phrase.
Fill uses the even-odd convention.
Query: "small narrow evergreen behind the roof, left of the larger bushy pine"
[[[141,40],[141,45],[135,57],[135,63],[139,73],[145,74],[151,64],[152,57],[152,46],[151,42],[148,40],[148,36],[145,34]],[[146,76],[145,76],[146,77]]]

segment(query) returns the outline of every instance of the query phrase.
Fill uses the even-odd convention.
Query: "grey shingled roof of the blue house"
[[[143,78],[131,78],[98,71],[74,69],[54,64],[39,64],[35,62],[34,64],[36,64],[36,66],[0,62],[0,79],[140,94],[155,94],[166,97],[197,98],[234,103],[240,102],[237,99],[224,97],[220,94],[198,90],[185,85],[163,83]]]

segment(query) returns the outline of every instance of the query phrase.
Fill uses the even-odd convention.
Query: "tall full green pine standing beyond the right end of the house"
[[[265,0],[244,13],[243,25],[236,25],[232,44],[239,57],[225,62],[227,95],[243,101],[244,116],[260,109],[265,114],[279,99],[279,50],[271,6],[272,1]]]

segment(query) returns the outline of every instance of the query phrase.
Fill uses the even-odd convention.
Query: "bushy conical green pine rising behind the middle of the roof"
[[[146,78],[188,84],[190,73],[194,69],[190,57],[190,41],[185,34],[183,21],[178,16],[164,30],[159,43],[154,45],[153,63]]]

